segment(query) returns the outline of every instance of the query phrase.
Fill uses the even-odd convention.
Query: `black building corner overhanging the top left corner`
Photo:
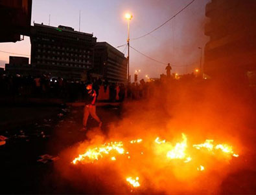
[[[0,1],[0,42],[21,41],[29,36],[32,0]]]

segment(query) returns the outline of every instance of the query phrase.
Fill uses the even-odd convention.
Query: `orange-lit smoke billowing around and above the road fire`
[[[244,169],[255,170],[250,159],[255,153],[252,128],[255,114],[251,102],[250,90],[230,88],[227,83],[199,80],[151,83],[148,99],[124,103],[122,119],[112,123],[107,134],[99,129],[89,131],[86,141],[63,152],[56,167],[80,192],[225,192],[222,183],[229,181],[231,174],[242,176]],[[184,141],[181,133],[187,138],[186,153],[192,158],[189,163],[184,163],[184,159],[168,159],[166,155],[176,143]],[[165,139],[165,145],[157,144],[154,141],[157,137]],[[133,139],[143,141],[131,144]],[[239,158],[217,150],[212,154],[192,148],[205,139],[232,145]],[[110,152],[93,163],[71,164],[87,149],[111,141],[122,141],[124,154]],[[116,161],[110,160],[112,156]],[[200,165],[205,170],[200,170]],[[141,186],[134,189],[126,182],[127,177],[139,177]],[[237,192],[238,187],[232,187]]]

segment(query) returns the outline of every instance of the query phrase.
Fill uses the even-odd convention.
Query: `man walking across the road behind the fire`
[[[97,99],[97,94],[95,92],[95,90],[93,89],[93,85],[91,83],[89,83],[86,86],[87,89],[87,98],[86,98],[86,104],[84,107],[84,119],[83,119],[83,128],[82,130],[86,130],[87,129],[87,119],[89,114],[91,114],[91,116],[99,123],[99,128],[102,125],[102,121],[100,121],[99,117],[96,114],[96,99]]]

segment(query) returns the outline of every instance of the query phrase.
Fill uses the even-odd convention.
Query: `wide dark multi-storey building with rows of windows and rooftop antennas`
[[[31,26],[31,65],[41,72],[67,79],[80,79],[93,69],[93,34],[69,26]]]

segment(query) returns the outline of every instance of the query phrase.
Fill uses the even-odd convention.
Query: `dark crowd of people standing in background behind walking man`
[[[85,81],[69,81],[60,77],[0,75],[0,98],[57,98],[65,101],[83,101],[86,94]],[[124,85],[93,79],[93,89],[99,101],[124,101],[126,98],[140,99],[148,96],[148,85],[140,83]]]

